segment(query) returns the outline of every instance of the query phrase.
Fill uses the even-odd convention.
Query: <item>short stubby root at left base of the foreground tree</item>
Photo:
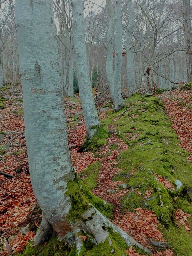
[[[46,220],[46,218],[43,215],[41,225],[39,226],[37,234],[34,238],[34,247],[38,247],[45,241],[48,241],[51,235],[52,235],[52,228],[48,220]]]

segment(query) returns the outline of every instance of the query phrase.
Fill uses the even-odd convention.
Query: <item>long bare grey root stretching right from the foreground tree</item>
[[[144,250],[146,253],[152,254],[149,249],[143,247],[127,233],[125,233],[122,229],[115,226],[92,205],[90,205],[90,208],[82,215],[82,217],[82,229],[84,230],[84,232],[89,232],[93,234],[98,244],[101,242],[105,242],[106,239],[108,239],[109,246],[112,245],[112,241],[108,232],[108,229],[112,228],[113,232],[118,233],[128,246],[135,245],[136,247]]]

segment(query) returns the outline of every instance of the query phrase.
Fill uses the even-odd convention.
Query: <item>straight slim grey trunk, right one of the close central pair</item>
[[[124,107],[121,95],[121,68],[122,68],[122,13],[121,0],[115,1],[115,73],[114,73],[114,95],[115,110],[120,111]]]

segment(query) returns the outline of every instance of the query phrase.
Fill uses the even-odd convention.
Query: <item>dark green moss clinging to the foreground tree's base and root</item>
[[[103,201],[101,198],[93,195],[93,193],[81,182],[77,177],[67,185],[68,191],[66,195],[71,198],[71,209],[68,214],[68,220],[76,222],[82,219],[82,214],[88,210],[90,203],[95,206],[104,216],[113,218],[113,206]]]

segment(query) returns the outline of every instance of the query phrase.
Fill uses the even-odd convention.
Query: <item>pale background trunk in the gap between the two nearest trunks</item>
[[[74,69],[74,57],[73,57],[73,45],[71,45],[71,49],[69,51],[69,82],[68,82],[68,96],[73,97],[74,89],[73,89],[73,69]]]

